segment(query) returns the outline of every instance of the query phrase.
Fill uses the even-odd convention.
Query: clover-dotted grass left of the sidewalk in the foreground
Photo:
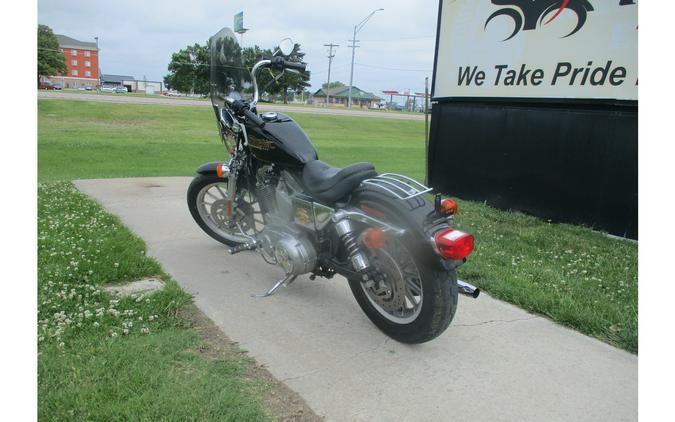
[[[68,182],[38,186],[40,420],[267,420],[264,382],[241,354],[204,357],[177,312],[190,297],[145,244]],[[143,276],[159,292],[101,289]]]

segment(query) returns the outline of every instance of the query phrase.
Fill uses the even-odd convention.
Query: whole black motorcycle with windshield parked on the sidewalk
[[[269,296],[303,274],[340,274],[388,336],[422,343],[440,335],[458,293],[479,294],[457,280],[474,247],[471,234],[451,226],[457,204],[404,175],[378,174],[370,163],[332,167],[292,118],[258,114],[261,71],[281,72],[272,81],[305,71],[305,63],[287,59],[295,47],[290,39],[250,71],[230,29],[209,45],[211,100],[229,159],[197,169],[188,207],[230,254],[256,251],[283,270],[254,296]]]

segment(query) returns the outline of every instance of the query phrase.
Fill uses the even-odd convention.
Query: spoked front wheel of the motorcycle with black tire
[[[255,194],[241,190],[235,200],[236,215],[228,222],[225,218],[227,179],[199,175],[192,180],[187,192],[190,214],[199,227],[228,246],[250,242],[265,224]]]

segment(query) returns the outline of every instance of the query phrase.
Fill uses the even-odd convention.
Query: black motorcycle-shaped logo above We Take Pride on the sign
[[[506,7],[490,15],[483,29],[486,29],[490,21],[498,16],[511,18],[515,25],[513,33],[503,41],[510,40],[520,31],[531,31],[537,29],[537,27],[548,25],[560,16],[565,9],[574,12],[577,18],[577,24],[572,32],[563,38],[569,37],[584,26],[588,12],[594,10],[593,5],[588,0],[492,0],[492,4]],[[555,13],[544,22],[544,19],[553,12]]]

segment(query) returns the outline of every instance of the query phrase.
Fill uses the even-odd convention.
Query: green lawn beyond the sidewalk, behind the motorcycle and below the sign
[[[206,107],[41,100],[39,178],[192,175],[224,157]],[[322,160],[371,161],[424,178],[424,122],[293,114]],[[638,349],[637,244],[460,200],[459,227],[476,236],[460,277],[631,352]]]

